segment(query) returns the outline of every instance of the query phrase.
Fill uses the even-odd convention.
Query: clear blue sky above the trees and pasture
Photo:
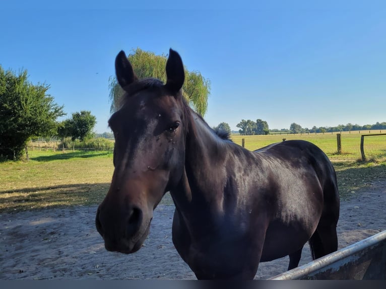
[[[211,126],[386,121],[385,1],[51,2],[2,4],[0,64],[49,84],[65,118],[90,110],[97,132],[110,131],[115,56],[136,47],[156,54],[171,47],[211,81]]]

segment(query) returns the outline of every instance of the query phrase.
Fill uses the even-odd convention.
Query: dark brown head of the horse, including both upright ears
[[[114,132],[114,173],[96,214],[96,228],[109,251],[133,253],[149,233],[153,209],[181,179],[186,122],[181,88],[184,69],[170,49],[167,82],[138,80],[123,51],[115,59],[123,105],[109,119]]]

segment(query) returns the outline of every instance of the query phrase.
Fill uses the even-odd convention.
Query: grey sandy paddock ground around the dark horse
[[[174,206],[154,211],[144,247],[107,252],[94,225],[96,206],[0,214],[0,279],[196,279],[171,240]],[[386,181],[341,201],[339,249],[386,230]],[[308,244],[299,265],[311,261]],[[255,279],[286,271],[288,257],[261,263]]]

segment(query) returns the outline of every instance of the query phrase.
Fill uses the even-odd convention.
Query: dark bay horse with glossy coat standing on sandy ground
[[[220,137],[182,97],[184,69],[170,49],[167,82],[139,80],[123,51],[125,91],[109,119],[114,173],[96,228],[109,251],[138,251],[165,192],[175,204],[175,248],[199,279],[252,279],[259,262],[298,265],[337,250],[335,170],[314,144],[289,140],[250,152]]]

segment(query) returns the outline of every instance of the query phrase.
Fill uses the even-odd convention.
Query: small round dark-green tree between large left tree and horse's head
[[[73,113],[73,117],[65,121],[65,134],[68,133],[72,140],[79,138],[84,141],[85,138],[91,138],[93,128],[96,124],[96,117],[88,110]]]

